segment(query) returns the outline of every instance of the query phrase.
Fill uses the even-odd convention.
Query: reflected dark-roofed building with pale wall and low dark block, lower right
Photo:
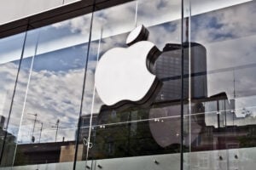
[[[192,151],[255,146],[255,125],[237,126],[234,124],[237,119],[234,112],[236,109],[234,99],[228,100],[226,94],[221,93],[201,99],[201,104],[203,110],[195,109],[191,116]],[[243,118],[239,119],[244,121]],[[232,122],[233,125],[230,125]],[[186,140],[189,141],[189,139]]]

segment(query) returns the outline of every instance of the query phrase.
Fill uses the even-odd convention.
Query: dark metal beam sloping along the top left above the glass
[[[94,0],[81,0],[76,3],[70,3],[59,8],[53,8],[39,14],[3,24],[0,26],[0,38],[9,37],[20,32],[47,26],[82,14],[89,14],[102,8],[109,8],[131,1],[134,0],[96,0],[96,3],[94,3]]]

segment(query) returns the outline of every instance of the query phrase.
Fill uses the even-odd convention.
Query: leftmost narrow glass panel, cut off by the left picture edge
[[[15,90],[15,80],[20,64],[25,34],[0,39],[0,163],[1,167],[13,163],[16,143],[15,128],[10,122],[12,98]]]

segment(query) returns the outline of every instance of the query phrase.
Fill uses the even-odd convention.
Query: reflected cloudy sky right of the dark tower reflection
[[[236,116],[228,116],[230,125],[255,123],[255,7],[254,2],[244,3],[191,18],[191,41],[207,48],[208,95],[236,96]],[[243,108],[252,114],[243,114]]]

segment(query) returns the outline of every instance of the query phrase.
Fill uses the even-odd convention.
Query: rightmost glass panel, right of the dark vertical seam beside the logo
[[[190,2],[188,169],[254,169],[256,3]],[[195,54],[205,58],[195,62]],[[207,83],[193,86],[194,78]],[[207,96],[194,98],[193,88]]]

